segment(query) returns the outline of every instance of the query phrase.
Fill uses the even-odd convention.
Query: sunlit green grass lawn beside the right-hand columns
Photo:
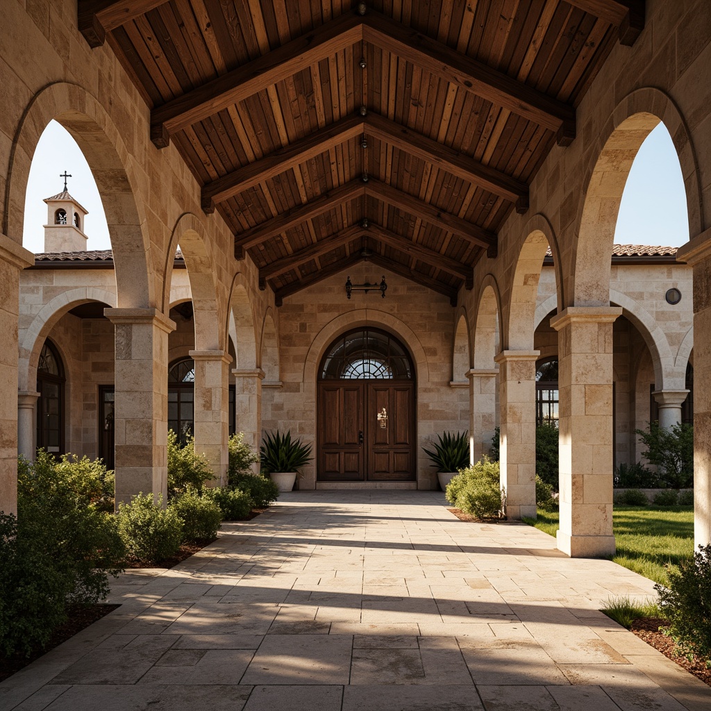
[[[538,510],[526,523],[552,536],[558,512]],[[694,513],[691,506],[615,506],[612,530],[617,545],[614,562],[665,584],[665,565],[691,560],[694,550]]]

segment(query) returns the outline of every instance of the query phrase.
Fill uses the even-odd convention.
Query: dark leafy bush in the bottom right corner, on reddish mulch
[[[699,546],[693,562],[668,570],[668,586],[656,584],[665,629],[682,648],[711,657],[711,545]]]

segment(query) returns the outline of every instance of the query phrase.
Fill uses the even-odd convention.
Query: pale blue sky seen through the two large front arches
[[[42,134],[32,160],[25,202],[23,245],[33,252],[44,249],[47,206],[44,198],[59,193],[60,173],[72,174],[68,190],[88,211],[85,233],[87,248],[111,247],[104,208],[87,162],[74,139],[57,122]],[[681,168],[671,138],[659,124],[632,165],[617,219],[617,244],[664,245],[678,247],[688,242]]]

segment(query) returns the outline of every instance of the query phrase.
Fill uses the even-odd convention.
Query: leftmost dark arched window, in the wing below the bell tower
[[[37,447],[53,454],[64,451],[64,383],[62,360],[48,339],[37,364]]]

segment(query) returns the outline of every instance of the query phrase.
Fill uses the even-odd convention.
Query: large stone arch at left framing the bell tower
[[[83,87],[50,84],[34,95],[14,136],[4,195],[2,231],[21,244],[24,203],[32,156],[47,124],[62,124],[87,159],[106,213],[114,254],[116,305],[156,304],[156,279],[149,264],[148,220],[137,196],[134,159],[101,103]]]

